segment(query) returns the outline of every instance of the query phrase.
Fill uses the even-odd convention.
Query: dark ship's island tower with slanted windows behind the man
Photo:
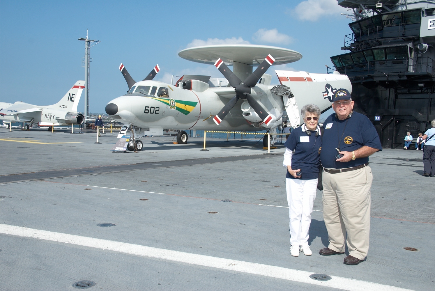
[[[367,115],[383,147],[401,146],[435,119],[435,0],[338,0],[351,34],[331,57],[352,83],[355,110]]]

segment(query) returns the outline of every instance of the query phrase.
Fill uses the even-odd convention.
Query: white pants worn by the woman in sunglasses
[[[285,179],[290,217],[290,244],[308,245],[317,180]]]

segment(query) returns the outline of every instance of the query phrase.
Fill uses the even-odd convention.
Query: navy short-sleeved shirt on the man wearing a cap
[[[336,147],[340,151],[356,151],[362,146],[368,146],[382,151],[381,141],[375,127],[365,115],[358,112],[354,112],[345,120],[339,120],[333,113],[326,118],[323,128],[325,130],[320,161],[325,168],[341,169],[368,163],[368,157],[348,162],[336,162],[335,156],[338,154]]]

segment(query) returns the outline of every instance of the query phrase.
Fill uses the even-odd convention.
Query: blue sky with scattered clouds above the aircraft
[[[348,18],[336,0],[292,1],[0,1],[0,101],[56,103],[77,80],[84,80],[86,37],[91,48],[90,112],[104,112],[125,94],[118,70],[123,63],[135,80],[159,64],[155,80],[172,74],[210,74],[211,65],[178,57],[194,44],[240,43],[296,50],[298,62],[268,70],[326,73],[329,57],[342,54]],[[84,110],[84,94],[78,110]]]

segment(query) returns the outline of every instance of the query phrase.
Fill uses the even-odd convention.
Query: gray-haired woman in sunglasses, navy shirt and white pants
[[[290,254],[299,256],[302,251],[311,256],[308,246],[308,229],[316,198],[319,176],[321,136],[318,119],[320,108],[308,104],[301,109],[304,124],[295,128],[285,142],[284,167],[290,217]]]

